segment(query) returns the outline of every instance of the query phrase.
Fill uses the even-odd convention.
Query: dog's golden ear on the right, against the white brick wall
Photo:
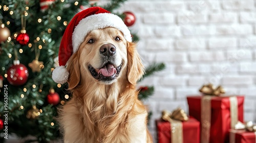
[[[136,43],[127,42],[127,57],[127,79],[131,84],[135,85],[144,74],[144,66],[136,50]]]

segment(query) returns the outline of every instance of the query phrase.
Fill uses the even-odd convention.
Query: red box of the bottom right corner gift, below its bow
[[[234,133],[233,139],[230,138],[230,143],[251,143],[256,142],[255,132],[248,132],[245,130],[230,130],[230,136]]]

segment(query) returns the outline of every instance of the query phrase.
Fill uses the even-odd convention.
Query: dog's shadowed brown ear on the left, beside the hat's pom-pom
[[[78,52],[79,51],[74,53],[68,61],[67,70],[69,71],[69,89],[75,88],[80,82],[80,65]]]

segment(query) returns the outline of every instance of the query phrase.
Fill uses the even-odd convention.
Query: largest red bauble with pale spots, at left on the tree
[[[27,82],[29,70],[24,65],[19,63],[19,60],[14,60],[7,70],[7,81],[14,86],[23,85]]]

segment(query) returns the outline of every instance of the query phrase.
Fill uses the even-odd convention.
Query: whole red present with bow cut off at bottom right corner
[[[234,129],[230,129],[229,134],[229,143],[256,142],[256,125],[251,121],[245,124],[238,122]]]

